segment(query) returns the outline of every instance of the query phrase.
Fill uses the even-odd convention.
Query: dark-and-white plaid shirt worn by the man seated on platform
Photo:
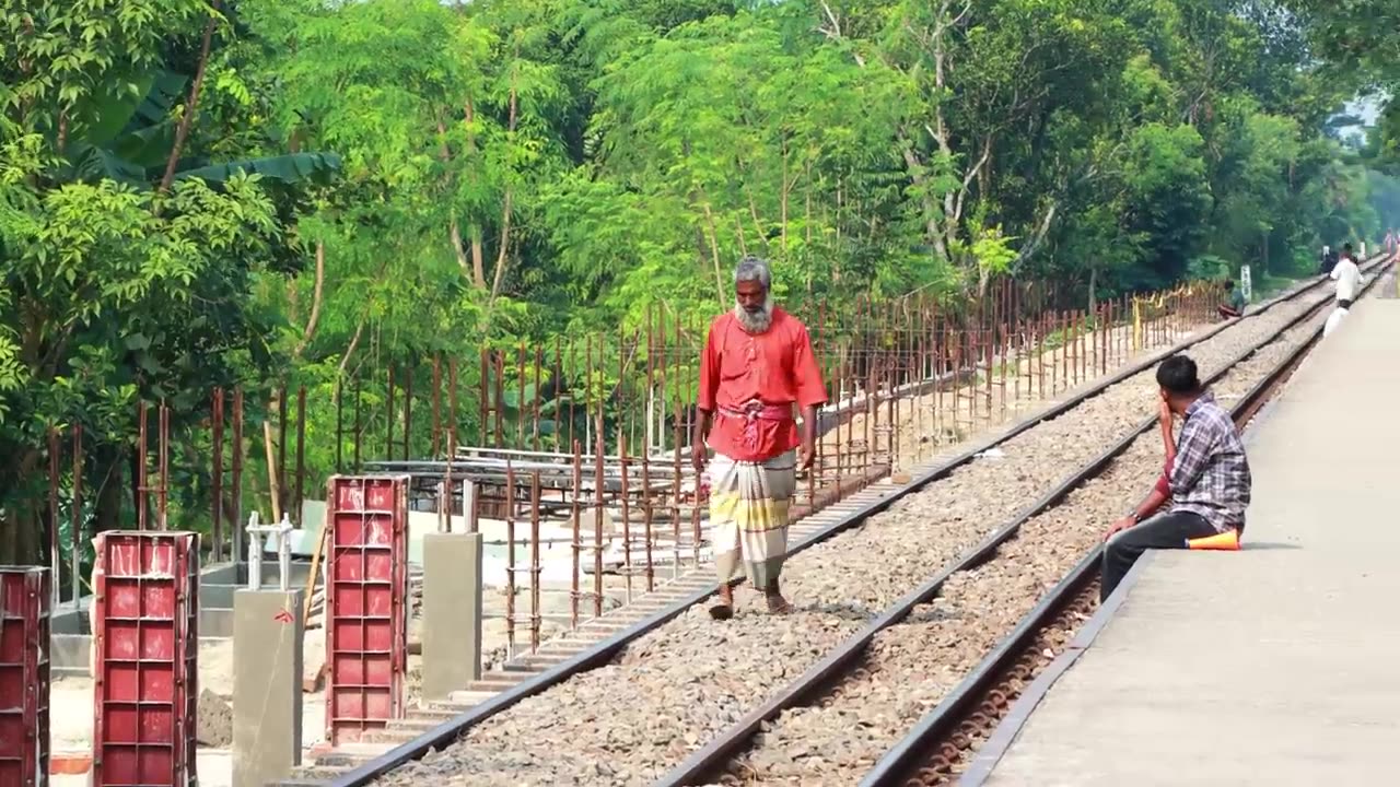
[[[1218,532],[1245,528],[1249,459],[1235,422],[1203,394],[1186,409],[1172,468],[1172,510],[1200,514]]]

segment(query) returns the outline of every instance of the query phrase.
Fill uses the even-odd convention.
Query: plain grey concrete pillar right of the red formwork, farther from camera
[[[482,678],[482,534],[423,536],[423,696]]]

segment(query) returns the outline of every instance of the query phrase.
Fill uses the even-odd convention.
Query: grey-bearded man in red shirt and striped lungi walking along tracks
[[[769,265],[746,256],[734,272],[734,308],[710,325],[700,357],[700,392],[692,438],[697,476],[710,464],[710,527],[720,599],[717,619],[734,615],[729,581],[743,574],[767,597],[769,611],[791,611],[778,591],[787,556],[788,504],[797,469],[812,465],[816,409],[826,403],[812,340],[795,316],[773,305]],[[792,417],[802,413],[801,438]],[[710,429],[711,420],[714,429]],[[708,436],[708,440],[706,437]],[[794,457],[794,450],[801,454]]]

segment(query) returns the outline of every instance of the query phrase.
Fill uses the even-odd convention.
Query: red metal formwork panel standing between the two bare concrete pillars
[[[403,716],[409,653],[409,476],[335,476],[326,515],[326,738]]]

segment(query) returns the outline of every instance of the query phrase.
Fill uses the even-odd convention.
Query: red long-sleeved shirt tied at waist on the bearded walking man
[[[743,410],[752,402],[785,405],[788,417],[763,417],[748,424],[743,417],[725,415],[725,410]],[[732,312],[710,323],[700,356],[696,405],[714,413],[707,440],[711,448],[741,462],[771,459],[801,444],[791,406],[823,403],[822,371],[816,367],[806,326],[798,318],[774,307],[771,326],[759,335],[746,332]],[[756,426],[755,443],[745,440],[745,426]]]

